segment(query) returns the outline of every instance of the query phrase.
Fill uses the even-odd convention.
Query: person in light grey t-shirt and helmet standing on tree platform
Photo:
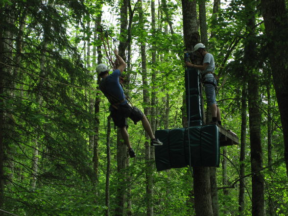
[[[221,125],[221,113],[216,102],[215,89],[217,86],[217,80],[215,78],[215,62],[211,53],[208,53],[205,49],[205,45],[198,43],[193,48],[193,53],[203,59],[202,65],[194,65],[191,62],[186,61],[185,65],[198,69],[202,74],[202,82],[205,88],[205,94],[207,99],[207,106],[210,107],[212,114],[212,122],[217,122]]]

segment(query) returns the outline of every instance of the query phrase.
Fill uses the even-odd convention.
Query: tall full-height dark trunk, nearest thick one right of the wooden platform
[[[246,29],[249,32],[244,48],[245,69],[248,73],[248,109],[251,146],[252,175],[252,216],[265,216],[264,177],[260,170],[263,168],[263,153],[261,142],[261,112],[259,108],[259,75],[255,68],[255,2],[245,0],[245,14],[247,15]]]

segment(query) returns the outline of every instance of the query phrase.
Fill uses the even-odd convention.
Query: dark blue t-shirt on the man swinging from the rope
[[[120,104],[127,103],[123,89],[119,82],[120,75],[120,71],[116,69],[113,73],[101,80],[100,89],[111,104],[120,103],[120,101],[122,101]]]

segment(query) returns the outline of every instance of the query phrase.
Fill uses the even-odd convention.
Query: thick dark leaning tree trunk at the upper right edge
[[[261,6],[268,37],[273,84],[283,127],[284,156],[288,177],[288,15],[285,0],[262,0]]]

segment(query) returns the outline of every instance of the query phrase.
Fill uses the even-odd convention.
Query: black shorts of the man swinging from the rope
[[[143,112],[137,107],[131,107],[129,104],[118,105],[118,109],[113,108],[111,111],[111,117],[117,127],[128,127],[126,118],[133,120],[134,124],[144,116]]]

